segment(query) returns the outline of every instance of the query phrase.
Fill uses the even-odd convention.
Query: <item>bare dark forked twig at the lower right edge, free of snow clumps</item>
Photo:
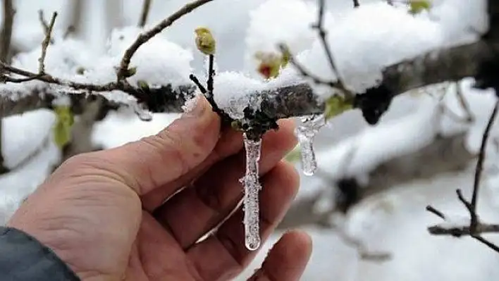
[[[488,123],[483,131],[483,137],[481,140],[481,146],[480,146],[480,152],[479,152],[479,158],[476,163],[476,169],[475,169],[475,174],[474,174],[474,184],[473,184],[473,194],[472,194],[472,199],[471,201],[468,201],[467,199],[464,198],[462,195],[461,189],[457,189],[457,198],[461,201],[461,203],[467,208],[467,211],[469,213],[469,226],[457,226],[457,225],[452,225],[452,227],[446,227],[446,226],[441,226],[441,225],[434,225],[432,227],[429,227],[429,232],[431,234],[438,234],[438,235],[452,235],[454,237],[460,237],[462,235],[469,235],[473,237],[474,239],[478,240],[479,242],[485,244],[489,248],[493,249],[494,251],[499,252],[499,246],[496,246],[495,244],[492,244],[491,242],[488,242],[486,239],[481,237],[481,233],[483,232],[498,232],[498,231],[493,231],[493,230],[499,230],[499,227],[495,227],[495,225],[490,225],[490,224],[482,224],[478,213],[476,213],[476,206],[478,204],[478,194],[480,190],[480,182],[481,182],[481,172],[483,168],[483,161],[485,160],[486,156],[486,148],[487,148],[487,141],[488,141],[488,135],[489,132],[491,131],[491,128],[493,126],[495,116],[497,115],[499,110],[499,101],[495,102],[495,106],[493,108],[493,111],[488,118]],[[433,206],[426,206],[426,210],[436,214],[440,218],[443,218],[446,220],[446,216],[443,212],[438,211],[436,208],[433,208]]]

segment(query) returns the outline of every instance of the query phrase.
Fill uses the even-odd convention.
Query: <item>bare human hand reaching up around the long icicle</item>
[[[293,125],[280,125],[262,144],[262,240],[299,185],[294,168],[281,161],[295,146]],[[53,249],[82,280],[229,280],[256,252],[245,249],[242,208],[231,215],[242,198],[242,137],[220,130],[200,98],[158,135],[70,158],[8,226]],[[311,246],[308,235],[288,232],[252,280],[299,280]]]

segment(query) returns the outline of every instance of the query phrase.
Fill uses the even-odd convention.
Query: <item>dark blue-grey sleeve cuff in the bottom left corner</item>
[[[0,280],[80,281],[80,278],[34,237],[0,226]]]

